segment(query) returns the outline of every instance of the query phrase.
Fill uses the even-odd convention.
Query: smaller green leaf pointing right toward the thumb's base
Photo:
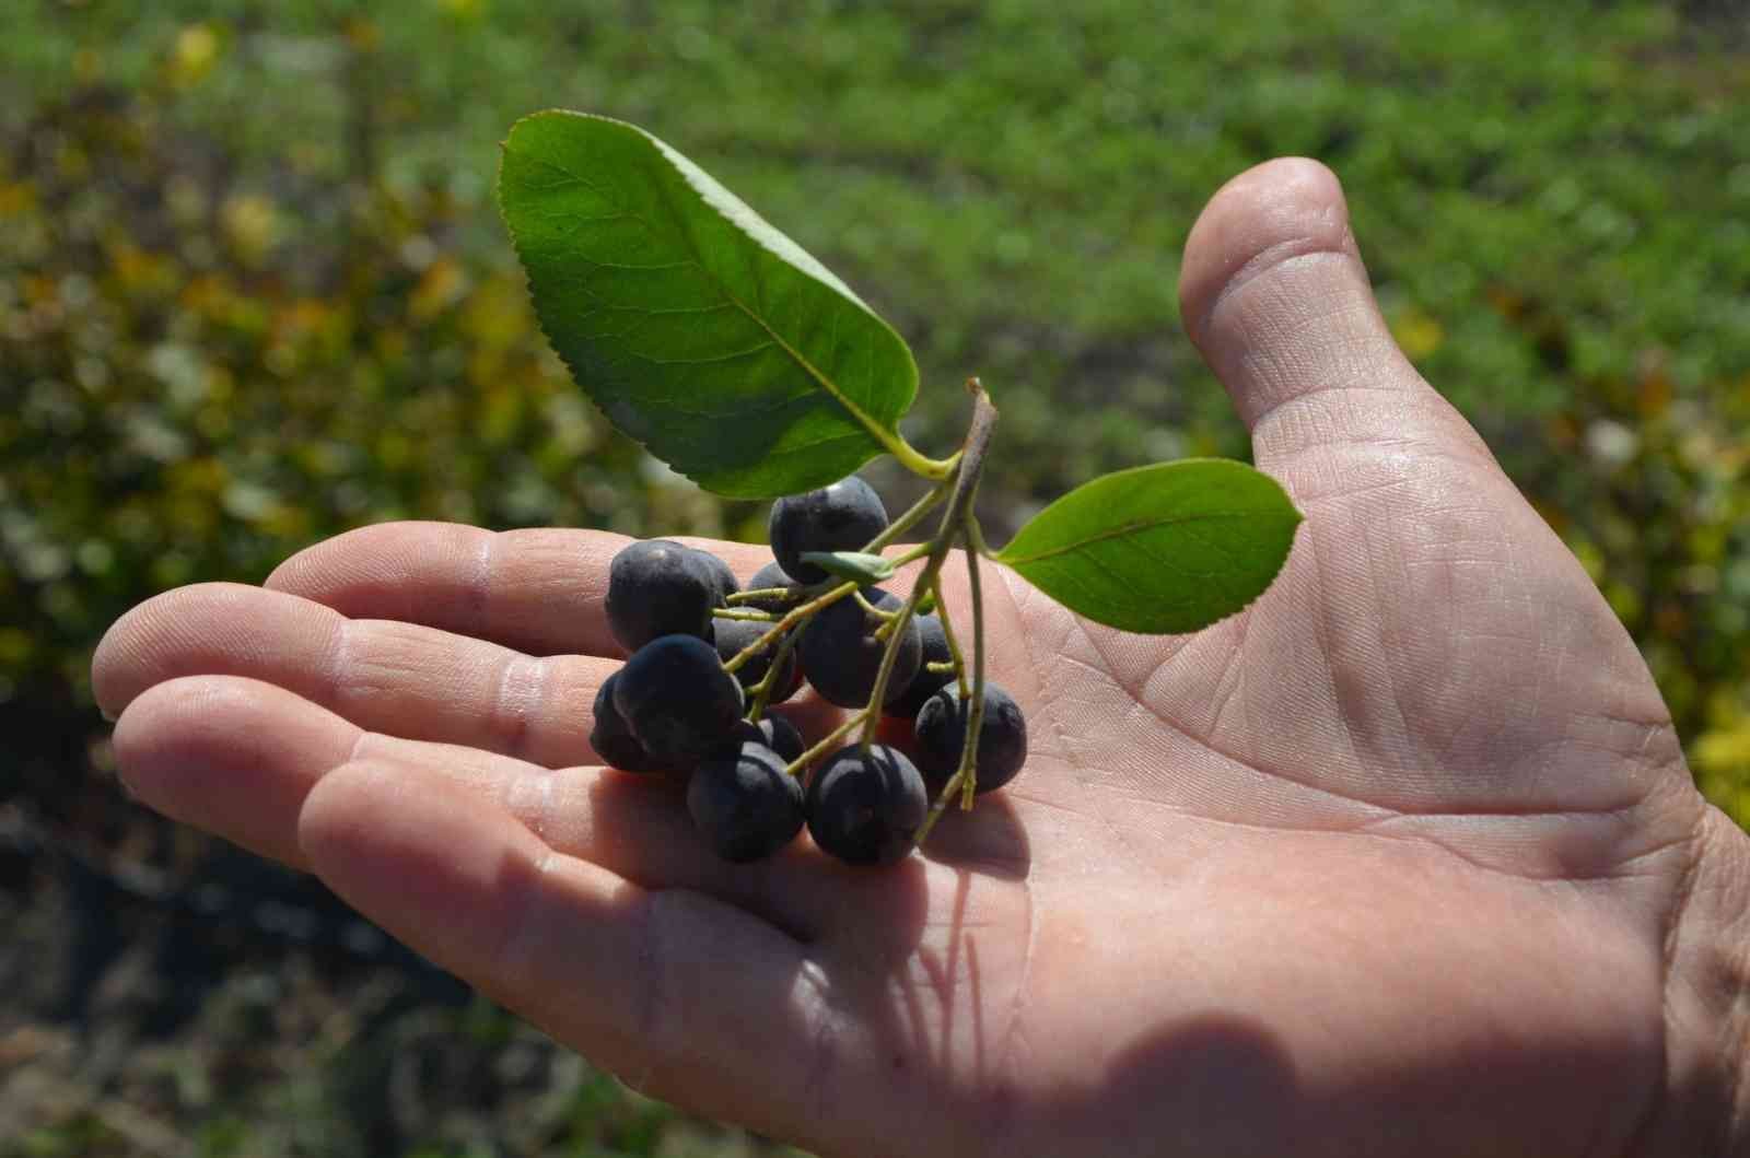
[[[998,562],[1064,607],[1125,631],[1197,631],[1258,598],[1300,513],[1227,458],[1101,476],[1040,511]]]

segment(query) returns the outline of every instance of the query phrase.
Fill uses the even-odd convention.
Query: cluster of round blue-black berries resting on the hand
[[[886,528],[880,497],[850,476],[772,506],[775,558],[746,596],[723,560],[667,539],[634,542],[609,567],[607,623],[632,658],[595,696],[590,743],[625,771],[686,775],[693,824],[726,861],[766,857],[807,824],[840,861],[891,864],[912,850],[929,794],[961,764],[966,701],[936,614],[900,624],[901,600],[863,586],[775,630],[786,612],[844,582],[805,555],[859,551]],[[875,710],[914,722],[910,756],[859,742],[816,752],[789,721],[765,712],[803,680],[830,703],[870,707],[891,635],[892,666]],[[1020,708],[985,684],[976,789],[1003,787],[1026,757]]]

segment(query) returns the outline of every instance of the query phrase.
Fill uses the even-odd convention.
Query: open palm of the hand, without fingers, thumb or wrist
[[[1633,701],[1605,687],[1633,652],[1559,670],[1614,624],[1484,457],[1320,448],[1283,474],[1346,483],[1302,481],[1276,588],[1195,637],[987,584],[1029,766],[919,862],[835,882],[808,941],[896,1100],[924,1088],[989,1130],[1026,1106],[1064,1144],[1164,1114],[1188,1153],[1267,1153],[1356,1107],[1438,1120],[1480,1069],[1500,1114],[1442,1128],[1512,1153],[1528,1100],[1652,1072],[1656,953],[1587,896],[1675,840],[1631,822],[1657,717],[1586,707]]]

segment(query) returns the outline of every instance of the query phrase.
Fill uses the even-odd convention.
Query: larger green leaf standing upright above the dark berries
[[[917,394],[900,336],[802,247],[644,129],[518,121],[499,203],[541,325],[609,420],[700,486],[772,499],[882,451]]]

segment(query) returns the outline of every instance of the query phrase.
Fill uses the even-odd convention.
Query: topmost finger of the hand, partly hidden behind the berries
[[[607,565],[632,542],[606,530],[492,532],[462,523],[378,523],[299,551],[264,586],[352,619],[399,619],[532,656],[620,656],[607,630]],[[746,577],[768,548],[691,541]]]

